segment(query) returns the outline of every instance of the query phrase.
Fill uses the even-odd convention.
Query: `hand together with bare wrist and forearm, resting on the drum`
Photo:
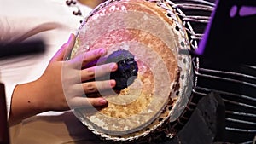
[[[66,111],[70,107],[102,107],[108,102],[102,97],[84,97],[99,90],[111,89],[114,80],[94,81],[97,77],[117,70],[115,63],[86,67],[91,61],[107,54],[107,49],[94,49],[66,60],[73,49],[75,36],[50,60],[38,80],[15,87],[9,121],[17,122],[40,112]],[[85,67],[84,67],[85,66]],[[82,68],[83,67],[83,68]],[[97,72],[97,74],[96,74]]]

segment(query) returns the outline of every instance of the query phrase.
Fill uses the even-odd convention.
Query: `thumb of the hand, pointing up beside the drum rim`
[[[55,56],[53,57],[54,60],[64,60],[65,58],[67,58],[67,55],[69,55],[69,53],[71,52],[71,50],[73,49],[75,43],[75,36],[72,33],[67,41],[67,43],[64,43],[61,46],[61,49],[59,49],[57,51],[57,53],[55,54]]]

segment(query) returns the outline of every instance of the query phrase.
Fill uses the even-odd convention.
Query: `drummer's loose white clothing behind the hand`
[[[0,42],[42,38],[47,46],[43,55],[0,60],[0,81],[6,87],[8,113],[15,85],[39,78],[70,33],[77,32],[80,20],[84,20],[73,14],[78,7],[83,16],[91,10],[80,3],[67,6],[66,0],[0,0]]]

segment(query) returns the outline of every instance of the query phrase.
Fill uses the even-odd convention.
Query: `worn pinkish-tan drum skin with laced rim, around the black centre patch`
[[[188,41],[181,20],[162,1],[102,3],[79,28],[70,58],[97,48],[107,48],[108,55],[129,50],[138,76],[120,93],[97,94],[108,100],[108,107],[75,108],[74,114],[94,133],[114,141],[131,141],[174,121],[186,107],[192,86],[189,53],[179,54],[189,49]]]

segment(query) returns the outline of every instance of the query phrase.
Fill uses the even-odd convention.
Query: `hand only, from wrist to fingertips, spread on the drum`
[[[101,56],[106,55],[107,49],[90,50],[66,61],[74,43],[75,37],[72,34],[68,42],[50,60],[43,76],[38,79],[41,84],[44,84],[44,93],[49,96],[48,98],[46,96],[42,97],[44,99],[42,101],[51,100],[45,104],[48,110],[63,111],[69,109],[69,107],[102,107],[107,104],[104,98],[90,98],[82,95],[111,89],[115,86],[114,80],[91,81],[96,77],[102,77],[109,72],[116,71],[117,65],[115,63],[84,67],[91,61],[98,60]],[[82,69],[82,67],[84,68]]]

